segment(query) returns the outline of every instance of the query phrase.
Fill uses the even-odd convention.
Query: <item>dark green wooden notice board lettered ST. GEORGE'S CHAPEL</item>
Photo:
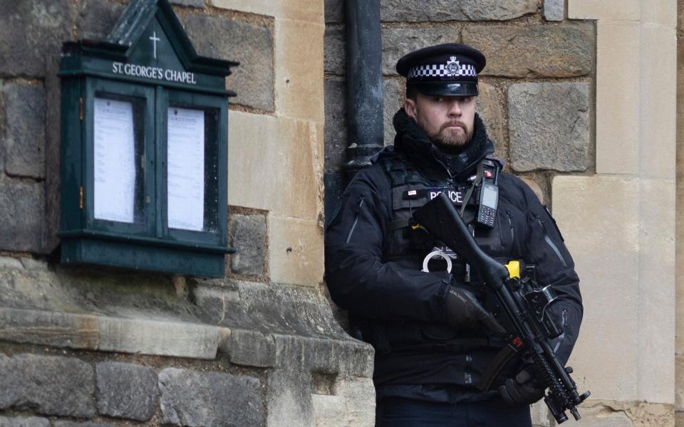
[[[63,45],[61,261],[221,277],[237,62],[197,55],[167,0]]]

